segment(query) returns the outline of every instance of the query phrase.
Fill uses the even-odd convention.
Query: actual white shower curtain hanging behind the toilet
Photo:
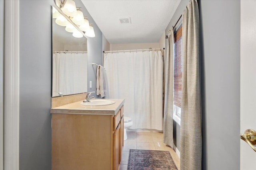
[[[104,53],[109,97],[125,99],[124,115],[131,129],[162,130],[161,51]]]

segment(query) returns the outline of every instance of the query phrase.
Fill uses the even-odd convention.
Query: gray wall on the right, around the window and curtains
[[[166,28],[166,35],[188,2],[180,2]],[[202,66],[202,169],[236,170],[240,169],[240,1],[198,0],[198,4]],[[177,141],[178,149],[179,129],[176,124],[174,141]]]

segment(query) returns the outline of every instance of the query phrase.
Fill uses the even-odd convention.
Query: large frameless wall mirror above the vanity
[[[73,37],[55,21],[52,18],[52,97],[87,92],[87,39]]]

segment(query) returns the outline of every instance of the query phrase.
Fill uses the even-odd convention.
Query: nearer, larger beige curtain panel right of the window
[[[196,0],[190,0],[182,16],[180,169],[200,170],[202,168],[202,125],[199,11]]]

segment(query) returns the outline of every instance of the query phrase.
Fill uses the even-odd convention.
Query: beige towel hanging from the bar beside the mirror
[[[98,65],[96,73],[96,95],[100,95],[101,98],[107,96],[107,76],[106,70],[103,66]]]

